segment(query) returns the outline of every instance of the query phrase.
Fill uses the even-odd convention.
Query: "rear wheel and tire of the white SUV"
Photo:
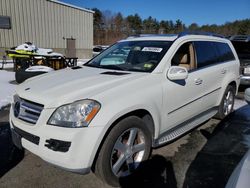
[[[223,119],[226,116],[228,116],[233,111],[234,100],[235,100],[235,88],[231,85],[228,85],[223,94],[218,113],[216,114],[215,117]]]

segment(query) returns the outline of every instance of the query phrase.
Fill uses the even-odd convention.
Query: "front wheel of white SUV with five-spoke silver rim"
[[[133,174],[149,158],[151,145],[151,133],[145,123],[135,116],[125,118],[106,137],[94,172],[107,184],[119,186],[119,178]]]

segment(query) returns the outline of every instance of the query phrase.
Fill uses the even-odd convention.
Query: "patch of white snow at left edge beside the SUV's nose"
[[[15,80],[15,73],[0,70],[0,109],[11,102],[16,85],[10,81]]]

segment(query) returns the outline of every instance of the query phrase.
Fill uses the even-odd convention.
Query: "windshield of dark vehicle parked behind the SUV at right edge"
[[[232,42],[239,59],[250,59],[250,42]]]

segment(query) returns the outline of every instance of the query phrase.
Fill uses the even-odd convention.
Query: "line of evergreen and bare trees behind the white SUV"
[[[160,20],[149,16],[142,21],[138,14],[123,17],[118,13],[109,10],[100,11],[92,9],[94,14],[94,44],[112,44],[122,38],[133,34],[152,33],[179,33],[186,29],[190,31],[205,31],[229,35],[250,35],[250,19],[226,22],[222,25],[202,25],[192,23],[188,27],[180,20],[175,23],[172,20]]]

